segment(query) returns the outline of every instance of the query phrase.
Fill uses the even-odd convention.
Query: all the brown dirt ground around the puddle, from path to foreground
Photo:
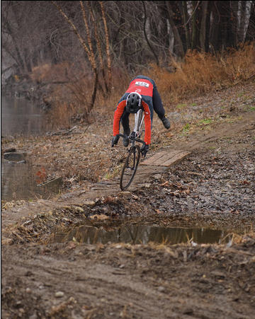
[[[2,209],[1,318],[254,318],[255,112],[229,119],[164,146],[189,154],[141,165],[128,192],[113,178]],[[126,223],[236,235],[225,245],[52,242],[79,224]]]

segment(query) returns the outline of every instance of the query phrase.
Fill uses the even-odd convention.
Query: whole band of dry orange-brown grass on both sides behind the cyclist
[[[132,79],[125,69],[113,67],[111,94],[106,95],[100,78],[94,109],[88,116],[86,112],[91,102],[93,74],[88,71],[88,66],[80,65],[78,70],[68,64],[54,67],[45,65],[33,70],[31,77],[35,81],[62,81],[50,95],[52,108],[49,110],[49,117],[52,128],[70,127],[74,120],[93,122],[96,117],[112,117],[118,100]],[[166,106],[169,106],[169,103],[179,103],[189,96],[203,95],[232,86],[254,76],[255,42],[241,45],[239,50],[229,49],[217,55],[189,51],[181,62],[170,59],[169,67],[174,69],[174,72],[156,64],[137,70],[137,74],[145,74],[154,79]]]

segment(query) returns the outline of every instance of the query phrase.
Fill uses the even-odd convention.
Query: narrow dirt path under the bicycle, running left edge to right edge
[[[188,154],[190,154],[191,157],[195,154],[199,154],[198,156],[200,156],[201,153],[214,149],[226,150],[229,156],[232,156],[231,154],[233,152],[242,151],[247,146],[253,150],[255,112],[238,112],[233,114],[233,119],[235,119],[232,120],[233,122],[215,123],[206,129],[205,132],[194,132],[194,134],[188,134],[183,140],[172,141],[170,146],[166,146],[164,149],[157,151],[156,156],[158,158],[158,155],[161,153],[163,155],[169,153],[169,158],[171,158],[171,154],[175,154],[176,151],[179,153],[182,151],[183,153],[179,156],[181,160],[186,158]],[[222,151],[217,151],[217,153]],[[155,175],[164,175],[164,173],[168,171],[171,163],[169,167],[161,166],[160,161],[157,163],[152,161],[154,156],[152,153],[149,158],[147,157],[142,160],[135,180],[128,188],[128,192],[139,191],[143,187],[146,187],[149,181],[154,180],[153,177]],[[147,162],[148,164],[146,165]],[[156,165],[153,165],[153,162],[156,163]],[[57,200],[38,199],[36,202],[21,202],[21,206],[11,207],[4,211],[1,216],[2,228],[8,226],[8,224],[21,222],[23,219],[37,214],[38,211],[50,211],[55,208],[61,209],[61,207],[70,205],[83,206],[84,201],[94,201],[99,197],[114,197],[120,194],[123,194],[123,192],[120,192],[118,176],[113,180],[95,183],[91,185],[89,190],[69,192],[58,197]]]

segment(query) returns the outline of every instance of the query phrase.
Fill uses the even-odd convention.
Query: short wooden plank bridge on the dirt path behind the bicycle
[[[190,152],[181,151],[181,150],[164,150],[152,156],[151,158],[146,159],[140,165],[149,165],[149,166],[171,166],[183,158],[185,158]]]

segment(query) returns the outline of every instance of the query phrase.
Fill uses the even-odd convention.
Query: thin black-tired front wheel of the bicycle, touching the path
[[[135,173],[137,171],[137,166],[140,161],[140,146],[135,145],[132,146],[130,151],[128,152],[128,157],[125,160],[123,170],[120,176],[120,189],[126,190],[133,178],[135,177]]]

